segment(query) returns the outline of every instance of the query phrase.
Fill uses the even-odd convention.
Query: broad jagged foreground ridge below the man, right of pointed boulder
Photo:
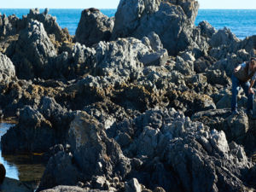
[[[152,132],[150,137],[145,130]],[[246,189],[243,176],[252,164],[241,146],[228,144],[224,131],[210,131],[174,109],[147,111],[136,119],[112,126],[108,132],[114,137],[119,131],[133,138],[122,148],[125,155],[142,161],[132,166],[130,176],[149,189],[159,185],[166,191]],[[141,143],[150,145],[140,148]]]

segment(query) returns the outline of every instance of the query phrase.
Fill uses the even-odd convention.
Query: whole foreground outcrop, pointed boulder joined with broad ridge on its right
[[[101,177],[103,183],[108,180],[110,186],[114,186],[112,178],[117,172],[119,182],[125,181],[128,191],[141,191],[139,183],[149,189],[161,186],[166,191],[247,189],[243,182],[253,164],[247,159],[244,149],[236,143],[229,144],[224,131],[211,131],[174,109],[150,110],[135,119],[115,124],[107,131],[101,126],[87,113],[79,113],[69,131],[69,155],[72,156],[63,158],[67,154],[59,152],[56,155],[62,157],[55,158],[55,163],[53,159],[49,160],[39,189],[50,187],[45,185],[46,180],[58,181],[52,185],[61,184],[70,174],[77,180],[71,179],[67,183],[76,184],[82,179],[85,183],[87,181],[85,186],[89,189],[109,189],[104,184],[101,188],[100,180],[97,185],[94,181]],[[62,173],[63,168],[49,166],[61,166],[62,160],[69,162],[64,169],[66,175]],[[74,171],[76,166],[80,167],[80,174]],[[135,179],[126,181],[127,173]],[[196,180],[192,179],[195,175]]]

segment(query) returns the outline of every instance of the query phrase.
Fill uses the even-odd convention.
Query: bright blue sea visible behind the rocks
[[[74,35],[83,9],[49,9],[49,14],[57,18],[59,25]],[[41,9],[43,12],[44,10]],[[104,15],[114,16],[116,9],[101,9]],[[0,9],[5,15],[22,17],[29,9]],[[256,34],[256,9],[200,9],[195,20],[197,26],[202,20],[207,20],[216,29],[224,26],[230,28],[237,38],[246,38]]]

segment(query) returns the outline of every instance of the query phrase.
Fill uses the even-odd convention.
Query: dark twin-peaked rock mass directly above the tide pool
[[[34,108],[26,106],[20,110],[18,124],[1,140],[3,153],[44,153],[56,143],[67,141],[67,131],[75,112],[67,112],[48,96],[41,99],[38,110]]]

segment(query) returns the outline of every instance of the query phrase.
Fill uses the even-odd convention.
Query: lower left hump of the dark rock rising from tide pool
[[[42,153],[54,145],[54,130],[49,120],[30,106],[20,111],[19,124],[1,139],[3,153]]]

